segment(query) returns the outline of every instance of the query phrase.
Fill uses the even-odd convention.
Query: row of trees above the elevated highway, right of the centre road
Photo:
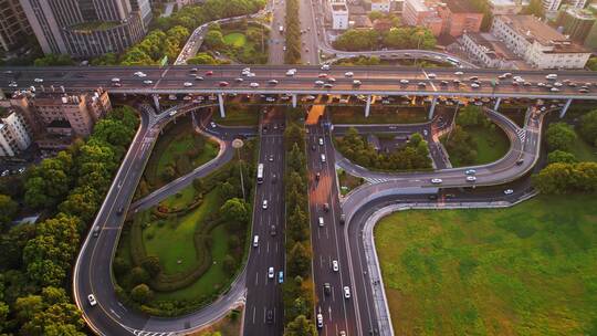
[[[433,49],[436,36],[427,28],[395,27],[389,31],[349,29],[334,41],[334,48],[345,51],[388,49]]]

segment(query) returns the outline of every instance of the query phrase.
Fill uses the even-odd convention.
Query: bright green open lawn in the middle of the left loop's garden
[[[191,188],[192,186],[187,189]],[[200,207],[178,221],[166,220],[161,228],[156,221],[143,230],[147,254],[159,255],[164,273],[172,274],[198,266],[193,243],[195,231],[197,225],[202,224],[206,217],[219,206],[220,200],[218,189],[216,189],[205,196]]]

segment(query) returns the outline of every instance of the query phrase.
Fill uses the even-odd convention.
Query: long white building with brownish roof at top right
[[[590,57],[584,46],[533,15],[496,15],[491,33],[535,69],[583,69]]]

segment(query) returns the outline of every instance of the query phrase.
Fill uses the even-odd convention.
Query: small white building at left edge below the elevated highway
[[[14,111],[0,113],[0,157],[15,156],[31,145],[23,116]]]

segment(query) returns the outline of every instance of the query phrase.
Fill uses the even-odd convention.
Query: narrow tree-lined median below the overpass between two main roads
[[[311,279],[311,238],[306,186],[305,130],[298,118],[303,112],[289,112],[289,127],[284,132],[286,147],[286,282],[284,298],[285,336],[315,336],[313,323],[313,280]]]

